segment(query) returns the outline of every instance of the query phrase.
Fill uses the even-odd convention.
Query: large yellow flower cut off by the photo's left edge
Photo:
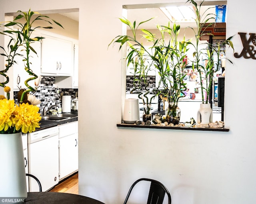
[[[12,114],[14,113],[14,110],[14,100],[0,100],[0,131],[3,129],[6,131],[9,127],[12,127],[14,122]]]

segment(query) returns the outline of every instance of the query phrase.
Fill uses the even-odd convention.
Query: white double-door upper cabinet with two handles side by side
[[[71,76],[74,70],[73,43],[71,40],[43,35],[41,49],[41,73]]]

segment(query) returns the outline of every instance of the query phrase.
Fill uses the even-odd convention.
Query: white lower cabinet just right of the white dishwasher
[[[78,170],[78,121],[59,126],[59,179]]]

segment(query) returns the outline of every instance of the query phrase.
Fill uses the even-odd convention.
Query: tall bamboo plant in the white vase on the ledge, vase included
[[[221,47],[223,46],[230,46],[233,48],[233,43],[230,40],[232,37],[229,37],[222,43],[218,43],[218,47],[214,48],[209,42],[205,43],[205,48],[200,48],[200,38],[204,35],[212,35],[209,33],[204,33],[204,30],[212,26],[214,23],[209,23],[211,20],[215,20],[214,14],[206,14],[207,9],[202,16],[200,15],[200,9],[204,1],[198,4],[194,0],[188,0],[187,2],[192,3],[195,8],[195,21],[196,21],[196,28],[191,28],[194,31],[195,34],[195,43],[190,44],[194,47],[195,51],[193,53],[194,60],[192,60],[192,69],[193,71],[196,69],[196,71],[199,73],[200,78],[200,89],[201,89],[201,96],[202,96],[202,104],[200,104],[201,108],[206,108],[205,116],[207,116],[206,119],[202,119],[202,114],[200,111],[197,114],[197,123],[202,125],[207,125],[209,122],[212,122],[212,109],[210,106],[210,100],[209,96],[212,92],[212,83],[214,78],[214,73],[216,72],[216,67],[219,67],[220,63],[220,53],[221,53]],[[214,55],[216,55],[217,59],[214,61]],[[207,59],[206,65],[202,65],[201,59],[205,58]],[[229,60],[230,61],[230,60]],[[231,61],[230,61],[231,62]],[[231,62],[232,63],[232,62]],[[206,106],[206,107],[205,107]]]

